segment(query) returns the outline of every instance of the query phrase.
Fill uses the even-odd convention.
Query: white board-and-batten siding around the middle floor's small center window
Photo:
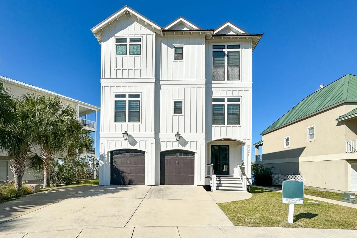
[[[205,132],[205,85],[161,85],[160,133]],[[182,101],[182,114],[174,114]]]

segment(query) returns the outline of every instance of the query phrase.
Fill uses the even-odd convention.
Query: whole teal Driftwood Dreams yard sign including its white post
[[[303,204],[304,202],[304,182],[294,179],[283,181],[281,202],[289,204],[288,223],[293,223],[294,204]]]

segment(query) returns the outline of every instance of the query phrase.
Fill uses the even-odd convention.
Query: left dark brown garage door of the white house
[[[145,152],[116,150],[110,153],[110,184],[144,185]]]

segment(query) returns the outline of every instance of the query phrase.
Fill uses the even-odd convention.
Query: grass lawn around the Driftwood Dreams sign
[[[281,203],[281,193],[254,187],[251,193],[250,199],[218,204],[235,226],[357,229],[355,208],[305,198],[303,205],[295,205],[290,224],[289,204]]]

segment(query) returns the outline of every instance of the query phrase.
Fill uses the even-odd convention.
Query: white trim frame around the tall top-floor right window
[[[211,67],[212,67],[212,82],[241,82],[242,80],[242,42],[232,42],[232,43],[211,43],[212,47],[211,47],[211,50],[212,50],[212,59],[211,59]],[[213,46],[214,45],[225,45],[225,49],[213,49]],[[240,45],[240,48],[239,49],[227,49],[228,48],[228,45]],[[225,80],[213,80],[213,52],[214,51],[223,51],[225,52]],[[228,51],[240,51],[239,52],[239,79],[238,80],[228,80]]]

